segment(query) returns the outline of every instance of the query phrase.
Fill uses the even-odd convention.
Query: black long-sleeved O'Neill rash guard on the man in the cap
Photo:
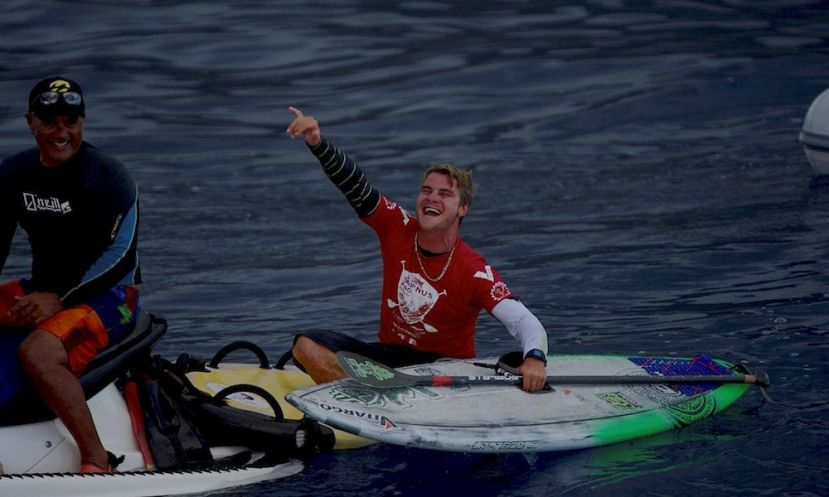
[[[71,307],[141,282],[135,182],[86,142],[56,167],[40,163],[37,147],[0,163],[0,272],[17,225],[32,249],[31,291],[54,292]]]

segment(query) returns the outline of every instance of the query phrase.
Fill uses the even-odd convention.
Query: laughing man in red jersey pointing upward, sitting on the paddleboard
[[[412,216],[374,189],[354,161],[322,137],[316,119],[289,110],[294,120],[288,133],[305,139],[326,175],[375,231],[383,258],[379,342],[336,332],[303,333],[294,341],[294,359],[322,383],[345,376],[335,356],[340,350],[392,367],[472,358],[475,324],[485,310],[521,342],[524,389],[541,390],[547,377],[544,327],[459,235],[475,193],[472,173],[451,164],[430,166]]]

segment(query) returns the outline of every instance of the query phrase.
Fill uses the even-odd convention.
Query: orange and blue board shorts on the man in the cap
[[[29,280],[0,283],[0,326],[19,327],[9,315],[17,298],[29,293]],[[79,376],[89,361],[111,343],[118,343],[132,331],[138,315],[138,291],[117,286],[86,302],[58,312],[37,325],[63,342],[69,368]]]

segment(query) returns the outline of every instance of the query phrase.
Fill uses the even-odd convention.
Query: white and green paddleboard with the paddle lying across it
[[[705,356],[675,359],[550,356],[551,390],[493,375],[497,358],[390,370],[339,354],[350,379],[304,388],[287,400],[337,429],[391,444],[460,452],[538,452],[654,435],[730,406],[762,373]],[[673,378],[673,381],[672,381]],[[561,381],[557,381],[561,380]]]

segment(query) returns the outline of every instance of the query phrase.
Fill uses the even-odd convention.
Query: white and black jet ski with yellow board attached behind
[[[258,364],[222,363],[239,344],[209,362],[153,356],[166,329],[163,318],[142,313],[131,334],[101,351],[80,378],[104,447],[118,461],[114,473],[77,473],[74,439],[10,367],[8,354],[3,358],[2,374],[17,375],[12,380],[21,386],[8,388],[14,381],[7,378],[0,388],[0,496],[51,497],[55,489],[62,497],[206,492],[293,475],[304,459],[334,446],[330,428],[298,411],[286,419],[286,392],[272,387],[310,384],[307,375],[284,363],[270,367],[264,352],[246,342],[242,347],[258,354]],[[283,377],[288,383],[280,383]]]

